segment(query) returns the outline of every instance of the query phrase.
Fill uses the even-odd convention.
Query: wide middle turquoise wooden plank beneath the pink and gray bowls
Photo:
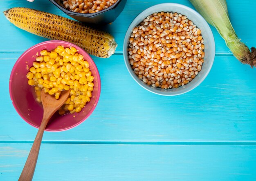
[[[0,54],[0,140],[32,141],[36,129],[22,120],[8,92],[11,68],[21,53]],[[102,91],[93,114],[43,140],[67,141],[256,141],[256,70],[232,56],[217,56],[204,82],[180,96],[160,96],[130,77],[122,55],[93,57]]]

